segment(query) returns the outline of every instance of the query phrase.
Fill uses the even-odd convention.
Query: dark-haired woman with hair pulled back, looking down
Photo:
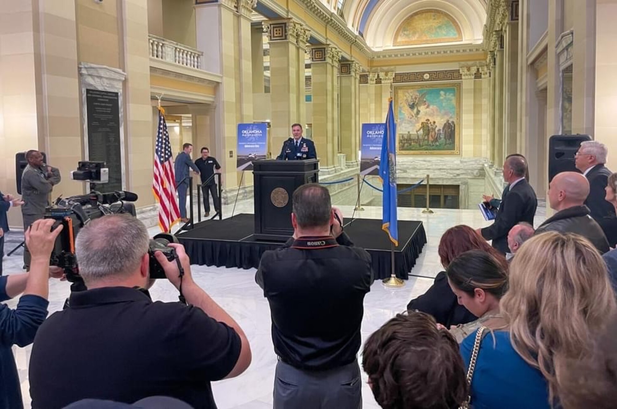
[[[470,250],[453,259],[445,269],[448,283],[458,303],[478,317],[468,324],[450,328],[457,342],[480,326],[503,329],[505,320],[499,311],[499,300],[508,290],[508,272],[486,251]]]

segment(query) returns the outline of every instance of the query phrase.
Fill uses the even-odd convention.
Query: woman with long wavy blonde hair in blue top
[[[585,238],[547,232],[517,251],[509,287],[500,302],[507,328],[485,332],[471,404],[474,409],[558,407],[566,362],[589,356],[594,334],[617,311],[606,266]],[[471,334],[461,344],[467,367],[474,338]]]

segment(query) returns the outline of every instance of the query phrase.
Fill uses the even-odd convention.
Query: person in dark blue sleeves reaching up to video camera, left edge
[[[15,310],[0,304],[0,408],[23,408],[22,387],[12,352],[13,345],[25,347],[35,338],[36,330],[47,316],[49,305],[49,276],[61,277],[49,268],[49,255],[57,235],[53,220],[35,221],[26,230],[26,244],[30,246],[30,272],[0,277],[0,301],[23,293]]]

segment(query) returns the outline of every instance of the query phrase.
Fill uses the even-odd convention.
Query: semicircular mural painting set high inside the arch
[[[461,29],[449,14],[440,10],[421,10],[407,17],[394,35],[395,46],[462,41]]]

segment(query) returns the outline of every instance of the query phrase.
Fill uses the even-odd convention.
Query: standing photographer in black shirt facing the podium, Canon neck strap
[[[361,408],[360,349],[371,256],[342,231],[328,189],[296,189],[294,237],[265,251],[255,281],[270,303],[275,409]]]

